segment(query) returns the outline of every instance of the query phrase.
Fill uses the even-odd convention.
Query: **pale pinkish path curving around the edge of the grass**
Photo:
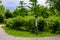
[[[8,35],[0,25],[0,40],[60,40],[60,37],[40,37],[40,38],[27,38],[27,37],[15,37]]]

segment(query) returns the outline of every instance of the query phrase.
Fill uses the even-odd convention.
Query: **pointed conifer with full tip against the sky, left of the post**
[[[20,16],[26,16],[27,15],[27,9],[25,8],[26,3],[24,1],[20,1],[20,5],[14,10],[13,14],[14,16],[20,15]]]

